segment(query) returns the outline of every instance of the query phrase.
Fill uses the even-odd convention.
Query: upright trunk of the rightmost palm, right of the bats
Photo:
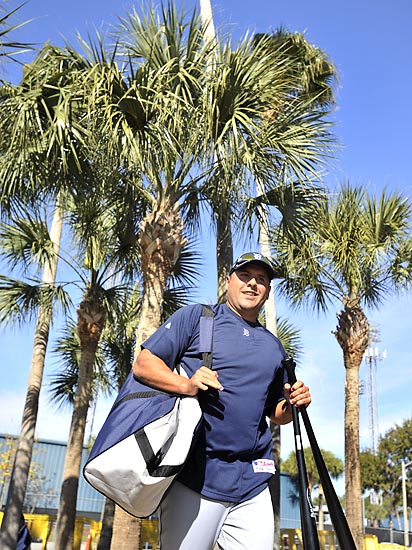
[[[358,306],[338,314],[335,336],[343,351],[345,377],[345,501],[356,548],[363,545],[359,449],[359,368],[369,342],[369,323]]]

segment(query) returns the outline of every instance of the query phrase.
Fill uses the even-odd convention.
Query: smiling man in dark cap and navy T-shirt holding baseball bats
[[[188,460],[160,505],[162,550],[272,550],[274,473],[267,417],[292,420],[307,406],[303,382],[291,388],[279,340],[257,321],[275,274],[258,253],[240,256],[227,277],[227,300],[213,306],[213,366],[201,365],[202,306],[186,306],[142,345],[134,375],[151,386],[198,395],[203,423]],[[188,378],[172,372],[180,363]]]

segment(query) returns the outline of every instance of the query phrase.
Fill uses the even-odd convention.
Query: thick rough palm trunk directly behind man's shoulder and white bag
[[[174,209],[158,209],[149,214],[141,224],[138,241],[143,294],[135,355],[140,351],[140,344],[160,326],[167,280],[186,244],[182,228],[182,220]],[[116,506],[110,548],[139,550],[140,531],[141,521]]]

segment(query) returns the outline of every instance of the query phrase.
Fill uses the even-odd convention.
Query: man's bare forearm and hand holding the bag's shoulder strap
[[[215,371],[200,367],[191,378],[173,372],[166,363],[148,349],[142,349],[133,363],[133,374],[141,382],[170,393],[197,395],[208,387],[223,390]]]

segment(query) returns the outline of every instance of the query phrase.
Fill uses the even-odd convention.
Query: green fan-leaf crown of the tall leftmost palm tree
[[[70,188],[71,178],[88,169],[81,122],[84,92],[76,88],[81,69],[78,59],[45,46],[25,68],[20,84],[1,89],[3,207],[16,194],[33,200],[41,192]]]

